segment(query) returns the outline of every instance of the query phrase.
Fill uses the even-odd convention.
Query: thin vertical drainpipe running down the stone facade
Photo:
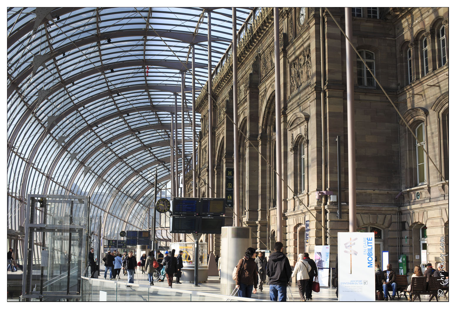
[[[325,108],[325,91],[323,86],[325,84],[325,67],[324,67],[324,28],[323,28],[323,8],[320,8],[320,63],[321,63],[321,190],[326,191],[326,108]],[[321,196],[321,244],[326,245],[326,195]]]

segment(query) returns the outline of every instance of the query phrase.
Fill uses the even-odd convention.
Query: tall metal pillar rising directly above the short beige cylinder
[[[239,145],[238,145],[238,31],[236,22],[236,8],[233,7],[233,44],[231,44],[233,55],[233,139],[234,139],[234,194],[233,211],[234,226],[240,226],[239,220]]]

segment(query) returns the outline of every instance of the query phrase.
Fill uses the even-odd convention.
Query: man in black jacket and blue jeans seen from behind
[[[269,277],[269,298],[272,301],[286,301],[286,287],[291,278],[291,266],[283,253],[284,245],[276,242],[275,252],[269,255],[266,274]]]

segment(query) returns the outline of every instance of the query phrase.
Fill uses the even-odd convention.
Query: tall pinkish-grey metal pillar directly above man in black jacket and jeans
[[[277,241],[282,242],[282,129],[280,128],[282,108],[280,104],[280,49],[279,49],[279,8],[274,8],[274,53],[275,53],[275,166],[277,170]]]

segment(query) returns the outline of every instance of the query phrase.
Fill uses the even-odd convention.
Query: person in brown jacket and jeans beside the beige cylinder
[[[258,272],[255,258],[255,249],[249,247],[244,253],[244,258],[241,258],[238,262],[236,267],[236,288],[238,288],[239,297],[251,298],[252,293],[256,293]]]

